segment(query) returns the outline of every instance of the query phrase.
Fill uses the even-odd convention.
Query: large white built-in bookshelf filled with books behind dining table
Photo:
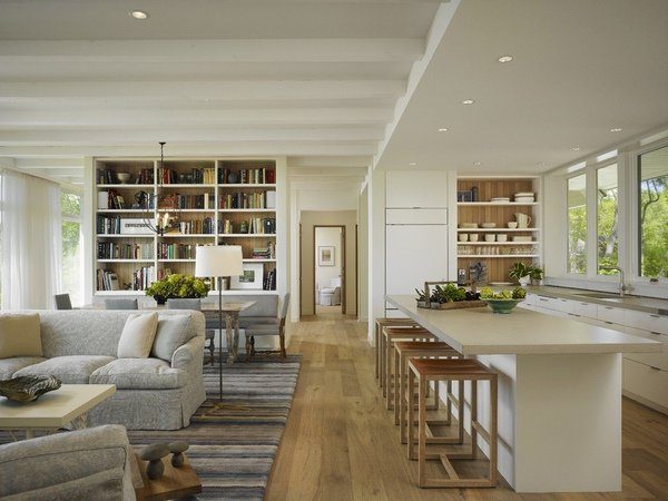
[[[193,275],[198,245],[240,245],[245,265],[273,276],[269,289],[226,294],[285,288],[276,276],[276,170],[271,158],[166,157],[163,169],[159,158],[92,159],[92,295],[145,295],[169,273]],[[165,213],[178,226],[150,232],[146,222]]]

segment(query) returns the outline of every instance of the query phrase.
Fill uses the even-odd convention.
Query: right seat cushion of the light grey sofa
[[[116,384],[117,390],[171,390],[187,383],[187,374],[160,358],[117,358],[97,369],[90,384]]]

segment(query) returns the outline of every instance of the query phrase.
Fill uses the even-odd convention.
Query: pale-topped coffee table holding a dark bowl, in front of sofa
[[[26,439],[37,430],[47,433],[68,423],[86,428],[86,413],[116,393],[114,384],[63,384],[35,402],[19,403],[0,396],[0,430],[24,431]]]

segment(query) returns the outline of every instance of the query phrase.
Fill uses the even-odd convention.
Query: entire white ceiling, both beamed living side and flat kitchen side
[[[353,186],[374,156],[538,173],[668,124],[666,0],[449,4],[440,32],[429,0],[0,0],[0,157],[72,181],[166,140]]]

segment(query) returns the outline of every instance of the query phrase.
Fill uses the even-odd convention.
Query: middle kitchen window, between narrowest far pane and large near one
[[[616,275],[619,250],[619,185],[617,164],[596,171],[597,185],[597,262],[599,275]]]

